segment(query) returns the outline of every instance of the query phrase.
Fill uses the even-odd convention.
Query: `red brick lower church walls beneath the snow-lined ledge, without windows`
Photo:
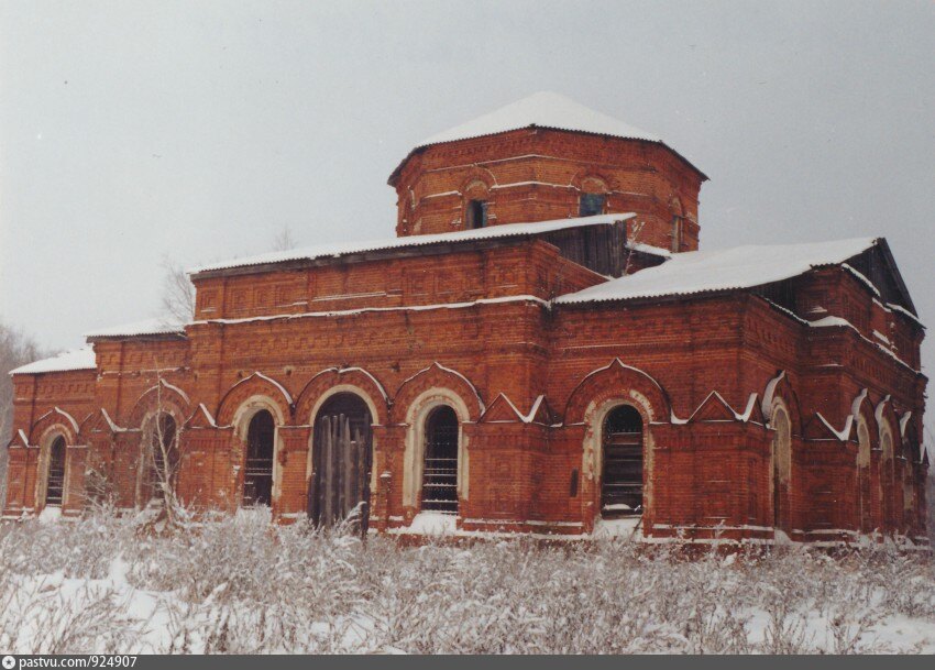
[[[463,427],[470,444],[470,494],[460,509],[464,528],[569,534],[588,530],[597,514],[600,473],[587,472],[584,455],[596,439],[588,421],[595,420],[595,405],[616,398],[645,404],[652,413],[646,417],[652,441],[647,531],[757,538],[771,537],[776,520],[773,431],[765,426],[761,403],[770,380],[785,371],[776,395],[793,415],[793,466],[788,491],[781,493],[789,516],[780,526],[798,539],[826,539],[859,528],[854,512],[857,444],[854,435],[835,438],[815,411],[840,428],[855,396],[868,388],[870,419],[876,422],[882,403],[880,416],[897,439],[904,413],[922,413],[924,378],[867,339],[849,328],[804,326],[743,294],[639,306],[548,309],[519,301],[205,322],[189,327],[187,336],[184,341],[98,342],[99,376],[18,376],[18,427],[29,429],[31,417],[51,406],[90,415],[76,441],[89,443],[90,458],[107,464],[119,504],[133,506],[139,504],[142,422],[146,408],[152,410],[152,387],[164,378],[186,396],[163,394],[164,408],[185,417],[180,492],[199,505],[232,509],[242,482],[243,436],[229,424],[248,398],[270,397],[286,424],[279,429],[275,508],[292,516],[306,504],[311,408],[330,386],[346,384],[382,407],[374,419],[382,426],[375,430],[376,460],[378,474],[386,476],[373,492],[374,501],[384,501],[374,515],[394,526],[418,512],[403,497],[406,411],[417,395],[410,389],[455,388],[465,402],[476,391],[485,411],[474,400]],[[154,360],[166,363],[158,374],[155,366],[145,367]],[[327,383],[319,383],[328,369]],[[366,371],[366,376],[342,372],[349,369]],[[253,375],[256,371],[275,384]],[[715,391],[719,397],[712,395]],[[757,394],[752,411],[738,418],[751,406],[751,394]],[[535,417],[520,417],[509,405],[525,415],[540,395],[544,400]],[[100,407],[119,432],[95,415]],[[887,505],[880,495],[870,502],[875,527],[916,532],[915,509],[903,514],[902,487],[897,491],[889,482],[923,473],[917,464],[884,462],[876,448],[879,440],[873,442],[870,490],[886,488],[891,496]],[[11,450],[8,514],[34,504],[37,447]],[[78,470],[85,466],[77,457],[69,463],[76,507]],[[920,493],[916,504],[922,502]],[[890,516],[883,518],[887,509]]]

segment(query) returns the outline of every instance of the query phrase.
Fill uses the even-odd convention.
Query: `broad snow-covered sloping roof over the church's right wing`
[[[752,288],[844,263],[878,243],[875,238],[804,244],[747,245],[692,251],[631,275],[566,294],[557,303],[595,303]]]

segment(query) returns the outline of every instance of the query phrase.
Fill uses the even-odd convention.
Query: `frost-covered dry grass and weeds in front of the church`
[[[517,539],[403,547],[224,518],[0,528],[0,649],[31,652],[935,651],[935,568]]]

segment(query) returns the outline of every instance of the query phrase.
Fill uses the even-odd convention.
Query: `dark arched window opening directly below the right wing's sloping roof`
[[[620,405],[604,419],[601,514],[604,518],[642,514],[642,417]]]

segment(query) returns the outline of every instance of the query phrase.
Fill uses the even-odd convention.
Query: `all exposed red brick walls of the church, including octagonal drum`
[[[636,212],[644,243],[671,249],[681,217],[678,248],[690,251],[703,178],[661,144],[527,129],[414,152],[392,183],[399,235],[457,230],[475,195],[503,224],[578,216],[581,193],[600,189],[607,211]],[[92,472],[120,506],[144,504],[141,444],[156,410],[180,427],[182,497],[233,510],[246,426],[266,409],[272,507],[296,518],[316,415],[343,391],[372,415],[378,530],[419,512],[425,421],[444,404],[460,424],[460,528],[591,531],[604,419],[628,404],[644,420],[647,537],[924,535],[914,436],[926,380],[911,316],[839,265],[787,282],[783,307],[750,290],[550,303],[604,281],[529,239],[197,274],[184,333],[97,338],[96,370],[14,375],[4,514],[43,507],[56,435],[68,444],[66,514]],[[811,327],[816,309],[854,328]],[[790,420],[784,455],[777,413]]]

